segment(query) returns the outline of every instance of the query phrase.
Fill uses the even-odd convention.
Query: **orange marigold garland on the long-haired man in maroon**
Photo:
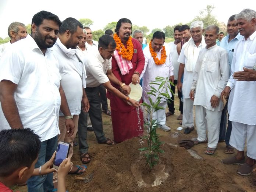
[[[122,55],[122,58],[131,61],[134,52],[132,37],[130,36],[128,41],[126,42],[127,48],[125,48],[124,44],[121,42],[121,39],[118,37],[116,33],[114,34],[114,40],[117,44],[117,47],[115,49],[118,51],[118,54]]]

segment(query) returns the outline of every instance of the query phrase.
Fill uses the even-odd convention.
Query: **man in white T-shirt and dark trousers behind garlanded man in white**
[[[175,85],[177,85],[177,79],[178,79],[178,71],[179,71],[179,62],[178,62],[178,52],[177,52],[177,44],[181,42],[182,40],[182,34],[181,32],[179,32],[179,29],[181,28],[181,26],[177,25],[174,28],[174,42],[168,43],[168,48],[171,54],[171,63],[173,65],[173,75],[174,75],[174,86],[171,85],[171,90],[173,90],[172,93],[172,100],[169,100],[170,103],[167,103],[168,105],[168,112],[166,113],[166,117],[173,115],[175,112],[175,108],[174,108],[174,94],[175,94]],[[182,111],[183,111],[183,102],[181,100],[182,98],[182,92],[180,92],[178,90],[178,97],[179,97],[179,111],[181,112],[181,114],[179,115],[179,117],[177,118],[177,120],[182,120]]]

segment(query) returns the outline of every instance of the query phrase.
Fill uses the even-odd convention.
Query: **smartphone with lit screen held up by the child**
[[[66,143],[63,141],[58,142],[57,151],[54,157],[53,168],[58,169],[62,161],[68,157],[69,150],[70,143]]]

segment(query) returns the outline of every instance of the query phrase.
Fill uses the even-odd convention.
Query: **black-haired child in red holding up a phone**
[[[31,176],[57,171],[52,167],[55,153],[49,161],[35,169],[40,149],[40,137],[31,129],[6,129],[0,132],[0,191],[25,183]],[[58,192],[65,192],[65,177],[71,169],[70,159],[58,168]]]

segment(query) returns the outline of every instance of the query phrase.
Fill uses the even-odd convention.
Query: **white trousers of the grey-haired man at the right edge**
[[[246,125],[232,121],[230,145],[239,151],[243,151],[246,139],[247,156],[256,160],[256,125]]]

